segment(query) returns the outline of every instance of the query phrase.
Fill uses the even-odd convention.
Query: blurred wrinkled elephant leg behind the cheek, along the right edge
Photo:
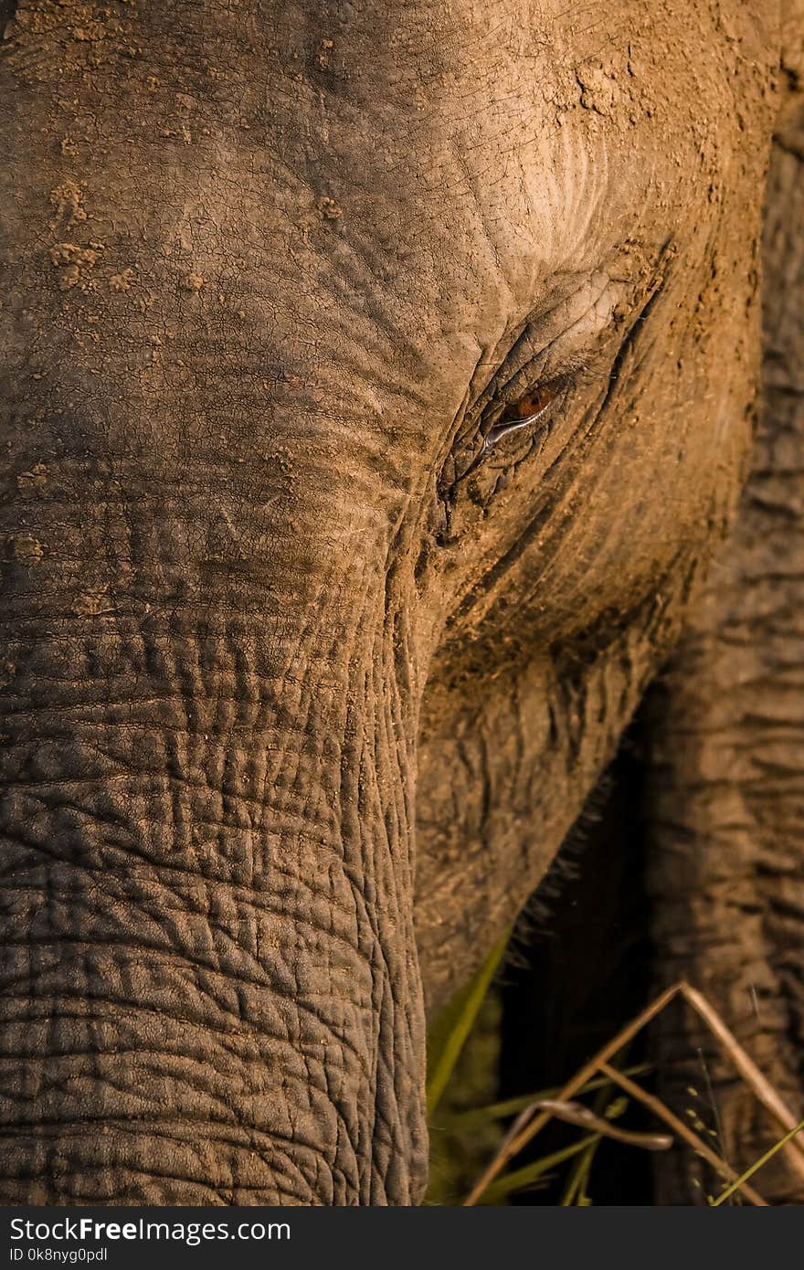
[[[654,691],[649,860],[662,973],[702,988],[798,1119],[804,1115],[804,6],[790,10],[786,29],[787,98],[765,227],[753,470],[704,601]],[[681,1011],[666,1020],[657,1045],[664,1096],[688,1107],[690,1087],[706,1091],[707,1110],[699,1110],[723,1135],[734,1167],[779,1137],[728,1059]],[[699,1166],[686,1156],[676,1172],[664,1163],[660,1201],[700,1201],[707,1180],[699,1177],[696,1190]],[[760,1177],[768,1201],[804,1203],[804,1153],[780,1152]]]

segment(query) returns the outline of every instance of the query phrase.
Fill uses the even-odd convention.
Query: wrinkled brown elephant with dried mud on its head
[[[663,970],[800,1104],[798,0],[5,8],[3,1201],[419,1203],[657,677]]]

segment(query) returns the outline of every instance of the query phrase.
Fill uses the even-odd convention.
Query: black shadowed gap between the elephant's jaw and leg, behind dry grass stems
[[[526,918],[519,955],[506,972],[502,1099],[565,1082],[649,999],[653,954],[643,806],[638,719],[539,888],[532,906],[536,916]],[[641,1035],[627,1062],[644,1062],[645,1055]],[[649,1078],[640,1080],[650,1086]],[[608,1100],[617,1096],[613,1091]],[[630,1107],[621,1123],[648,1128]],[[517,1165],[558,1151],[582,1134],[554,1121]],[[518,1195],[513,1203],[560,1203],[566,1173],[564,1165],[546,1189]],[[600,1205],[652,1204],[647,1153],[611,1140],[602,1143],[588,1194]]]

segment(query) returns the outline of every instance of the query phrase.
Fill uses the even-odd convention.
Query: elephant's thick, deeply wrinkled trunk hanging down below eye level
[[[413,729],[382,579],[349,612],[323,569],[293,592],[274,565],[258,605],[253,579],[180,569],[121,585],[116,554],[112,585],[108,551],[25,521],[1,612],[1,1200],[415,1201]],[[130,508],[127,541],[152,525]]]

